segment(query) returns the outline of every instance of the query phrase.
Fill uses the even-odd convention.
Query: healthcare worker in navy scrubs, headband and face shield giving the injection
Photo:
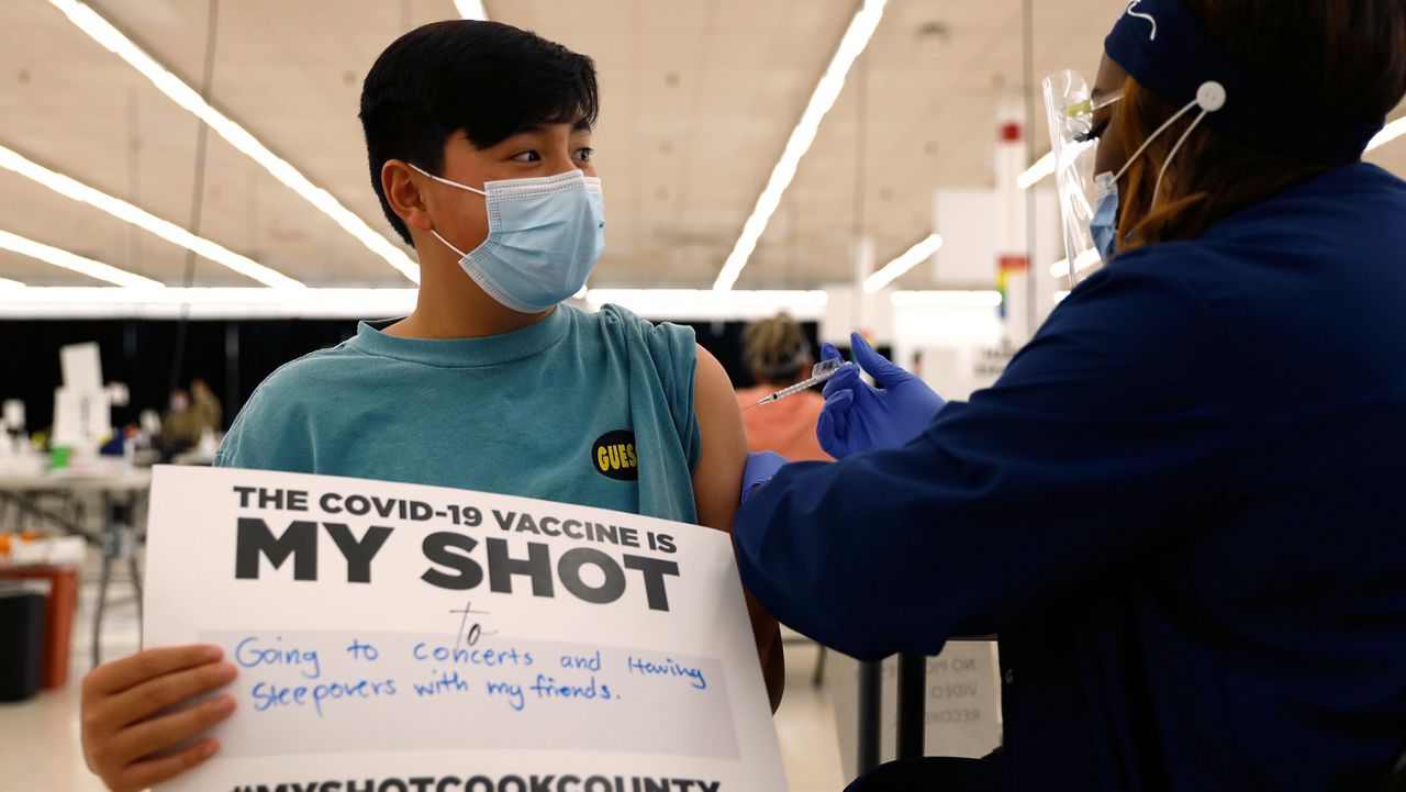
[[[856,338],[880,387],[827,387],[842,459],[749,464],[742,580],[859,658],[1000,636],[1002,751],[855,789],[1381,789],[1406,183],[1360,155],[1406,93],[1406,3],[1135,1],[1092,91],[1046,93],[1066,159],[1098,142],[1107,264],[969,402]]]

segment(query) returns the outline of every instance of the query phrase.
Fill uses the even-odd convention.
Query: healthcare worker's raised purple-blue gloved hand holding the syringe
[[[825,407],[815,423],[820,447],[835,459],[897,449],[917,437],[946,404],[927,383],[875,352],[863,336],[852,333],[849,339],[859,367],[844,366],[825,383]],[[821,360],[838,357],[832,345],[821,346]],[[879,387],[860,380],[859,369]]]

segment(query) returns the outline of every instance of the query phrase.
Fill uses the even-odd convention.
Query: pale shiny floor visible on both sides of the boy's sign
[[[80,592],[69,684],[22,703],[0,703],[0,791],[100,792],[79,747],[79,681],[91,667],[89,630],[96,602],[97,563],[90,560]],[[103,657],[111,660],[138,646],[136,603],[127,577],[118,574],[103,630]],[[828,685],[811,685],[814,644],[792,636],[786,646],[786,698],[776,713],[776,734],[792,792],[835,792],[844,786],[835,713]]]

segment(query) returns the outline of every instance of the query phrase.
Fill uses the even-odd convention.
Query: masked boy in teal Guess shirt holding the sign
[[[731,530],[745,437],[727,374],[692,331],[561,304],[603,245],[592,60],[496,23],[418,28],[361,93],[371,184],[420,260],[415,311],[270,376],[217,464],[586,504]],[[600,452],[605,452],[603,454]],[[776,622],[748,599],[775,709]],[[83,682],[83,746],[111,789],[209,758],[233,665],[153,649]]]

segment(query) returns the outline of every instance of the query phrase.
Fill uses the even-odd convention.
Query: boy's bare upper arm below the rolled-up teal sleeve
[[[702,346],[697,347],[693,412],[703,446],[693,468],[699,525],[731,532],[742,490],[742,466],[747,464],[747,433],[727,371]]]

